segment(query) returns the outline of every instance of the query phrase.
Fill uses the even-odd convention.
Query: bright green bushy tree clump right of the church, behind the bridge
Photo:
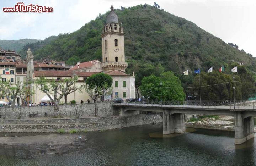
[[[162,85],[161,85],[162,83]],[[185,93],[180,79],[172,72],[164,72],[160,77],[154,74],[144,77],[139,87],[141,94],[151,100],[179,100],[185,99]]]

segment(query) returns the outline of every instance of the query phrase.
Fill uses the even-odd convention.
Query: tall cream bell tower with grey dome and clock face
[[[102,31],[102,64],[103,71],[112,70],[125,71],[127,63],[124,56],[124,33],[122,23],[118,22],[118,17],[114,12],[114,7],[110,7],[106,24]]]

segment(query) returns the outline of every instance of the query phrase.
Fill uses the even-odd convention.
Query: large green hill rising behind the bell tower
[[[188,69],[193,71],[195,68],[207,71],[212,66],[216,70],[223,65],[228,71],[232,62],[244,63],[250,71],[256,72],[256,59],[251,54],[240,51],[193,22],[163,9],[137,5],[114,11],[124,27],[128,73],[138,73],[145,64],[151,64],[153,70],[160,67],[174,73]],[[35,59],[51,56],[56,60],[66,60],[70,65],[101,60],[100,35],[108,13],[99,15],[73,33],[59,34],[58,37],[51,37],[51,40],[47,38],[30,44]],[[27,48],[28,45],[24,46],[20,52],[23,57]]]

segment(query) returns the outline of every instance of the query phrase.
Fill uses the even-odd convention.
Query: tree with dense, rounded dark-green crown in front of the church
[[[105,73],[93,74],[92,76],[87,78],[84,88],[89,96],[94,100],[95,116],[98,116],[98,96],[112,94],[112,83],[112,77]]]

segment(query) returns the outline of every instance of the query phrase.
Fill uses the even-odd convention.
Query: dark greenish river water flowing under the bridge
[[[256,139],[234,144],[234,132],[187,128],[184,134],[162,136],[162,125],[144,125],[103,132],[26,134],[27,143],[0,145],[0,165],[256,165]],[[1,134],[9,142],[24,134]],[[71,143],[54,145],[58,142]],[[31,138],[31,139],[30,139]],[[63,138],[63,139],[61,139]],[[50,145],[51,144],[51,145]]]

